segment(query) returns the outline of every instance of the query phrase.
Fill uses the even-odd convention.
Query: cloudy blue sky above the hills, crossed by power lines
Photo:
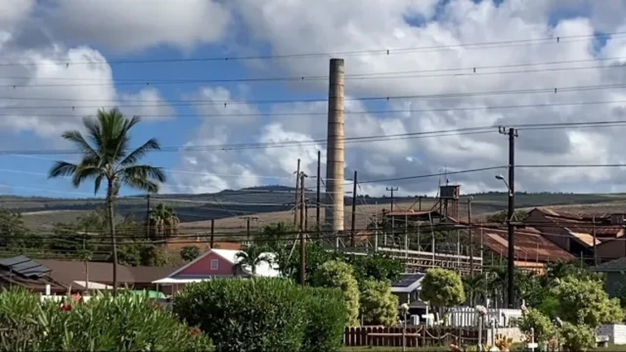
[[[598,3],[603,3],[602,5]],[[329,8],[333,11],[329,11]],[[476,77],[401,77],[384,80],[347,80],[347,96],[406,96],[472,91],[515,90],[552,86],[585,86],[621,83],[618,71],[607,66],[622,65],[626,58],[623,36],[593,33],[620,33],[626,24],[626,7],[621,2],[597,1],[413,1],[324,0],[259,1],[244,0],[156,0],[83,1],[9,0],[0,5],[0,61],[23,65],[19,70],[0,66],[4,83],[16,72],[29,84],[50,83],[49,78],[93,79],[115,86],[72,89],[66,87],[34,90],[24,88],[0,92],[7,97],[63,98],[68,101],[0,101],[13,116],[0,123],[3,150],[68,148],[60,142],[67,128],[80,128],[80,119],[29,115],[68,113],[63,109],[35,109],[27,106],[99,105],[85,99],[108,99],[121,106],[133,100],[170,103],[160,109],[143,106],[126,113],[150,115],[166,111],[169,119],[145,122],[136,128],[133,140],[156,137],[163,147],[187,143],[284,142],[315,140],[326,134],[326,117],[303,113],[324,113],[324,103],[223,106],[175,106],[176,101],[275,100],[325,98],[327,82],[297,83],[234,82],[180,85],[122,85],[123,80],[218,80],[277,76],[327,75],[328,58],[277,60],[187,61],[174,63],[121,64],[116,60],[159,60],[219,56],[259,56],[291,53],[334,53],[366,49],[424,48],[444,49],[346,56],[346,72],[381,73],[432,71],[449,68],[505,66],[555,61],[603,59],[583,64],[526,66],[526,68],[574,68],[584,70],[512,73]],[[500,45],[493,48],[463,48],[459,44],[523,41],[525,39],[578,38],[567,43],[541,45]],[[449,46],[450,49],[445,49]],[[393,50],[392,50],[393,51]],[[86,58],[86,59],[85,59]],[[611,60],[608,60],[611,58]],[[71,66],[51,72],[45,60],[98,61],[98,64]],[[104,62],[106,61],[106,62]],[[109,71],[110,70],[110,73]],[[494,69],[495,71],[505,68]],[[510,70],[510,69],[509,69]],[[492,70],[493,71],[493,70]],[[437,71],[436,71],[437,72]],[[406,75],[404,75],[406,76]],[[72,82],[72,81],[70,81]],[[75,87],[74,87],[75,88]],[[623,98],[623,99],[622,99]],[[76,100],[75,103],[71,100]],[[350,101],[348,111],[420,110],[419,113],[347,115],[349,137],[391,135],[467,128],[500,123],[573,122],[622,118],[623,103],[603,106],[574,106],[511,111],[440,111],[449,107],[533,105],[573,101],[626,100],[623,89],[590,90],[559,95],[480,96],[472,98],[403,99],[364,103]],[[107,103],[108,104],[108,103]],[[141,103],[150,105],[149,103]],[[13,107],[11,107],[13,106]],[[429,112],[432,110],[432,112]],[[76,111],[74,111],[76,113]],[[82,111],[80,113],[83,113]],[[87,113],[87,112],[85,112]],[[90,112],[91,113],[91,112]],[[296,113],[294,116],[255,116],[237,118],[203,117],[220,113]],[[621,163],[621,127],[606,130],[558,130],[521,133],[518,158],[521,163]],[[503,165],[505,143],[497,135],[458,135],[453,137],[352,144],[346,148],[346,174],[359,170],[361,179],[376,180],[449,170]],[[290,184],[295,160],[314,173],[317,150],[326,146],[267,148],[202,153],[155,153],[147,162],[168,170],[170,181],[163,192],[215,192],[220,189],[260,184]],[[71,156],[66,156],[68,158]],[[18,195],[85,196],[91,185],[72,189],[68,180],[46,180],[54,158],[1,156],[0,193]],[[579,170],[521,170],[519,184],[528,191],[617,192],[626,189],[622,170],[598,172]],[[380,194],[391,185],[406,194],[432,193],[437,179],[402,184],[368,184],[366,192]],[[501,185],[491,173],[463,174],[454,182],[467,192],[498,190]],[[70,193],[70,192],[78,192]],[[124,190],[125,194],[135,194]]]

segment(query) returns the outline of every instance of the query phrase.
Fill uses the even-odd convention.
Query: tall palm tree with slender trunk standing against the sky
[[[121,185],[146,192],[158,192],[158,183],[165,182],[161,168],[140,165],[139,160],[151,150],[160,149],[154,138],[135,150],[130,149],[130,129],[140,122],[138,116],[126,118],[117,108],[98,110],[97,118],[83,119],[88,140],[79,131],[66,131],[62,137],[74,143],[83,154],[78,164],[58,161],[50,169],[49,178],[71,176],[72,185],[79,187],[93,179],[94,193],[106,181],[106,205],[113,251],[113,294],[117,293],[117,246],[113,224],[113,202]]]

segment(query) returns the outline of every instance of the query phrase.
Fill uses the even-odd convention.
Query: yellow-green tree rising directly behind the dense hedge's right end
[[[359,285],[352,267],[342,261],[327,261],[317,270],[314,281],[316,286],[341,289],[348,311],[347,324],[359,326]]]

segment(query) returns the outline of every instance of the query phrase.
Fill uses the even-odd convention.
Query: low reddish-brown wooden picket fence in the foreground
[[[346,328],[344,344],[346,346],[402,346],[402,331],[402,327],[361,326],[359,328]],[[394,334],[395,336],[381,336],[379,334]],[[406,337],[406,346],[408,347],[445,346],[451,343],[459,345],[478,344],[478,329],[471,328],[407,326],[406,334],[419,334],[419,337]],[[482,338],[483,343],[486,343],[486,330],[483,330]]]

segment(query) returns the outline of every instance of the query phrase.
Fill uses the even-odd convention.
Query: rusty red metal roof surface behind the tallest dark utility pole
[[[505,257],[508,255],[508,232],[506,229],[483,227],[475,230],[474,233],[483,235],[483,244],[491,251],[502,253]],[[514,253],[517,261],[554,262],[574,259],[572,254],[541,236],[536,229],[516,230],[514,236]]]

